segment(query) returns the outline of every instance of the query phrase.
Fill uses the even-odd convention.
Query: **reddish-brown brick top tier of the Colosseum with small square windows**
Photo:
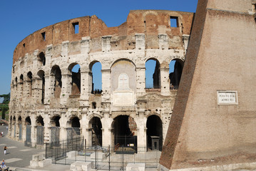
[[[26,53],[36,49],[44,51],[47,45],[56,46],[63,41],[81,41],[83,37],[91,38],[91,52],[101,51],[102,36],[111,36],[111,50],[127,50],[135,48],[135,33],[145,34],[145,48],[159,48],[158,34],[173,36],[189,35],[193,22],[193,13],[166,10],[130,11],[127,21],[121,26],[107,27],[97,16],[83,16],[62,21],[39,31],[31,33],[22,40],[14,50],[15,63]],[[177,26],[170,26],[170,19],[177,19]],[[75,32],[78,26],[78,33]],[[170,42],[169,48],[183,48],[180,44]],[[79,53],[79,50],[75,53]],[[59,56],[60,54],[55,54]]]

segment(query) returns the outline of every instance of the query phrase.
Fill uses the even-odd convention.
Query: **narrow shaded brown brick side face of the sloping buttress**
[[[175,162],[173,161],[175,147],[180,143],[185,143],[185,141],[178,142],[178,138],[180,136],[180,128],[183,125],[186,103],[188,102],[188,94],[190,93],[190,86],[193,81],[197,56],[200,50],[200,41],[203,35],[203,28],[205,26],[206,5],[206,1],[198,1],[198,8],[196,11],[197,15],[195,16],[195,21],[193,23],[190,46],[188,46],[187,58],[184,63],[183,75],[180,80],[180,88],[177,93],[177,98],[173,107],[173,115],[170,119],[168,133],[166,135],[163,151],[160,157],[160,165],[167,168],[173,168],[173,162]]]

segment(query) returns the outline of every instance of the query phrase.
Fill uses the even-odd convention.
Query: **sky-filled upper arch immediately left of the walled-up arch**
[[[93,61],[90,64],[91,70],[91,93],[101,94],[102,93],[102,74],[101,74],[101,63],[98,61]]]

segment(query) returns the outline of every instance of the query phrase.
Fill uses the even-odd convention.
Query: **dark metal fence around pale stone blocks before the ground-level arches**
[[[80,140],[80,141],[79,141]],[[75,141],[75,149],[68,149],[68,145],[46,144],[46,158],[51,158],[53,163],[71,165],[73,162],[91,162],[95,170],[126,170],[128,163],[145,163],[147,168],[158,167],[160,151],[150,150],[147,147],[115,146],[101,147],[92,146],[83,149],[81,139]],[[82,141],[84,142],[84,141]]]

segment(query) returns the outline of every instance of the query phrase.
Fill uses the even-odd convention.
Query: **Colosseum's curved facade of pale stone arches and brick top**
[[[135,10],[116,27],[84,16],[31,33],[14,50],[9,136],[162,150],[193,16]]]

